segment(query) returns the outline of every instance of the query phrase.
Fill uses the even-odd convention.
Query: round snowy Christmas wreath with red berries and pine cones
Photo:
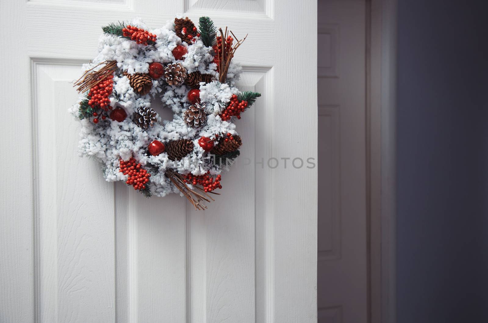
[[[159,29],[138,19],[102,29],[97,56],[75,81],[80,155],[98,159],[107,181],[148,197],[179,193],[205,209],[239,156],[234,121],[261,96],[235,87],[241,67],[232,58],[245,37],[217,30],[208,17],[198,28],[176,17]],[[154,99],[173,120],[151,108]]]

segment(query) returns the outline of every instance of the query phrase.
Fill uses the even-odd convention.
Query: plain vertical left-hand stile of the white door
[[[5,323],[34,319],[30,62],[21,52],[12,56],[7,50],[26,33],[25,6],[25,1],[0,2],[0,26],[8,30],[0,37],[0,58],[9,62],[1,70],[0,95],[4,107],[15,107],[0,128],[0,148],[8,153],[1,160],[0,198],[0,322]]]

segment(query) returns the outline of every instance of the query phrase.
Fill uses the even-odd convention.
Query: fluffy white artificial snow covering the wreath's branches
[[[233,94],[239,94],[239,90],[234,85],[239,80],[242,68],[231,62],[226,84],[217,81],[208,84],[201,83],[200,98],[202,104],[206,104],[207,120],[201,129],[189,128],[183,121],[183,111],[191,105],[186,97],[190,90],[189,87],[185,85],[169,86],[162,77],[159,80],[153,80],[149,94],[140,96],[134,92],[128,78],[122,75],[122,72],[148,73],[149,64],[152,62],[159,62],[163,65],[179,62],[186,68],[187,73],[199,71],[218,78],[217,66],[212,63],[212,48],[206,47],[200,39],[189,45],[182,43],[174,31],[172,21],[168,21],[164,27],[158,29],[149,29],[140,19],[135,19],[130,24],[155,34],[156,43],[152,46],[145,46],[129,39],[103,34],[99,39],[96,57],[89,64],[82,66],[82,70],[85,71],[105,61],[117,61],[118,69],[114,73],[113,92],[109,97],[110,106],[123,108],[127,117],[122,122],[106,118],[104,121],[100,120],[98,124],[94,124],[89,119],[80,120],[79,153],[81,156],[89,155],[100,160],[104,167],[104,178],[107,181],[127,180],[127,175],[119,172],[120,159],[128,160],[134,157],[151,173],[149,183],[153,194],[156,196],[165,196],[170,193],[181,194],[178,188],[164,176],[167,169],[176,170],[182,174],[191,172],[195,175],[206,172],[218,174],[223,170],[210,162],[209,154],[200,147],[198,139],[202,136],[215,139],[215,134],[220,133],[237,134],[235,125],[222,121],[218,114],[229,103]],[[183,56],[183,61],[176,61],[172,54],[172,50],[177,45],[183,45],[188,50],[188,53]],[[103,64],[94,70],[102,67]],[[86,93],[82,93],[78,103],[70,109],[70,112],[77,118],[81,101],[85,98]],[[159,122],[154,127],[144,130],[132,121],[132,115],[138,108],[151,107],[152,100],[161,100],[165,108],[173,111],[174,119],[162,122],[159,118]],[[182,160],[169,160],[166,152],[157,156],[152,156],[147,152],[147,146],[153,140],[167,144],[171,140],[178,139],[191,139],[194,143],[192,153]]]

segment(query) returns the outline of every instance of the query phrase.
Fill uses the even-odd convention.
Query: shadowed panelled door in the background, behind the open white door
[[[366,323],[366,1],[318,13],[318,317]]]

